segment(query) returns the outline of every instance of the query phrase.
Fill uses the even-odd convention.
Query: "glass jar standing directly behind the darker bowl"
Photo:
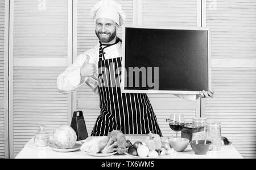
[[[205,140],[205,122],[207,118],[193,118],[192,122],[192,139],[191,140]]]

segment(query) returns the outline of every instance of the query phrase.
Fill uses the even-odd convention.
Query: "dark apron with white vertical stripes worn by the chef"
[[[103,136],[108,135],[113,130],[121,130],[123,134],[148,134],[152,131],[162,136],[147,95],[121,93],[119,86],[121,84],[121,74],[118,74],[121,73],[119,70],[122,63],[121,57],[105,60],[104,48],[102,49],[100,43],[98,92],[100,94],[101,112],[91,135]],[[102,76],[104,72],[107,73],[106,70],[109,74]]]

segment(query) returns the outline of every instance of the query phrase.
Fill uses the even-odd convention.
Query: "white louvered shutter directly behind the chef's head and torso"
[[[90,16],[90,9],[99,1],[82,1],[77,0],[77,54],[94,47],[98,41],[95,35],[95,22]],[[122,5],[123,11],[126,13],[126,24],[133,24],[133,1],[116,1]],[[122,38],[122,28],[117,31],[119,38]],[[100,100],[97,94],[92,92],[87,85],[82,85],[77,90],[77,107],[75,109],[84,112],[85,123],[88,134],[92,132],[94,123],[98,115],[100,115]],[[75,101],[76,103],[76,101]]]

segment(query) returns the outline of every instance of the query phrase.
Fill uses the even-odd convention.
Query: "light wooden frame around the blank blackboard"
[[[148,28],[148,29],[170,29],[170,30],[203,30],[208,31],[208,91],[211,88],[211,57],[210,57],[210,29],[207,27],[164,27],[164,26],[122,26],[122,73],[125,73],[125,33],[126,28]],[[122,74],[122,80],[125,80],[125,74]],[[125,81],[121,81],[121,92],[122,93],[168,93],[168,94],[200,94],[199,91],[177,91],[177,90],[130,90],[125,89]]]

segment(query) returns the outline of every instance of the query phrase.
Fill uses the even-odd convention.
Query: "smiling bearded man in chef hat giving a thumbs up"
[[[77,56],[77,59],[57,78],[57,88],[61,93],[69,93],[84,82],[100,96],[101,113],[91,133],[92,136],[108,135],[112,130],[124,134],[148,134],[152,131],[162,136],[156,116],[146,94],[121,93],[121,75],[115,74],[121,67],[122,42],[117,37],[117,29],[125,20],[121,5],[113,0],[98,2],[91,10],[96,20],[95,33],[100,42],[92,49]],[[102,69],[103,68],[103,69]],[[109,76],[101,76],[110,69]],[[113,71],[111,71],[113,69]],[[110,84],[114,77],[115,84]],[[213,92],[196,95],[176,95],[195,100],[199,97],[213,97]]]

